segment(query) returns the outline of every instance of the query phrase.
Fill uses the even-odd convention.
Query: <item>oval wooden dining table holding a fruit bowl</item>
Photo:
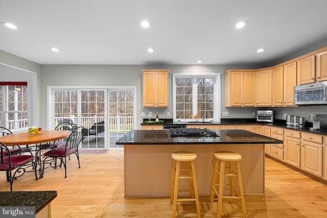
[[[71,134],[72,132],[67,130],[44,130],[40,135],[29,135],[28,132],[5,135],[0,137],[0,141],[6,144],[6,146],[29,146],[35,144],[36,163],[39,165],[38,171],[40,178],[42,178],[41,146],[37,145],[64,139]]]

